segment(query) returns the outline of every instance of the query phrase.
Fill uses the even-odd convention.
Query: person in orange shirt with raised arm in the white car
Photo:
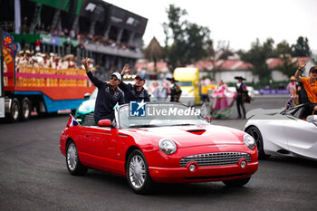
[[[303,103],[305,108],[316,112],[317,111],[317,66],[312,66],[309,71],[309,77],[301,77],[301,72],[305,67],[306,62],[300,62],[300,66],[295,72],[295,78],[303,86],[305,93],[303,94]],[[302,89],[303,90],[303,89]]]

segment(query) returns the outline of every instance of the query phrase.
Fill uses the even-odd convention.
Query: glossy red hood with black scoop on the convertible
[[[245,132],[216,125],[174,126],[147,129],[133,129],[134,137],[144,139],[170,138],[178,143],[178,147],[187,148],[193,146],[219,145],[219,144],[244,144]]]

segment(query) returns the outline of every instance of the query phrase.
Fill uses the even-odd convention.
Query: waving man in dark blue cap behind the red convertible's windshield
[[[130,72],[130,65],[126,63],[121,71],[121,78],[125,73]],[[149,101],[149,93],[144,89],[145,76],[144,74],[138,73],[135,77],[135,84],[127,84],[120,82],[119,88],[124,92],[124,99],[126,103],[130,101]]]

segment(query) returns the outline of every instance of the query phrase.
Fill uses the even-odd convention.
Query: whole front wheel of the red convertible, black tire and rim
[[[143,153],[135,149],[129,156],[127,163],[127,178],[130,187],[137,194],[147,194],[153,186],[153,180],[149,177],[149,166]]]

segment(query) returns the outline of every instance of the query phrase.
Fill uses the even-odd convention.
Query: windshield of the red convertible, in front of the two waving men
[[[199,109],[173,102],[125,104],[116,115],[121,129],[208,124]]]

